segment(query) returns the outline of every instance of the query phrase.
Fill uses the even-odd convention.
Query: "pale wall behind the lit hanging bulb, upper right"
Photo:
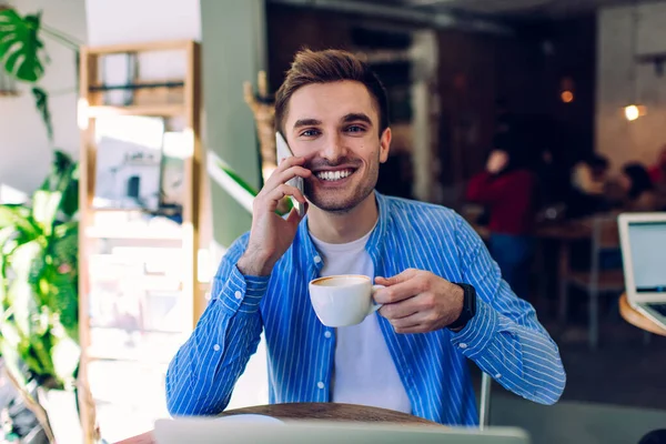
[[[604,9],[597,23],[596,149],[614,170],[628,161],[652,164],[666,143],[666,73],[659,78],[653,64],[636,65],[637,98],[647,105],[647,115],[627,122],[622,108],[634,97],[633,8]],[[637,52],[666,52],[666,3],[639,6],[637,23]]]

